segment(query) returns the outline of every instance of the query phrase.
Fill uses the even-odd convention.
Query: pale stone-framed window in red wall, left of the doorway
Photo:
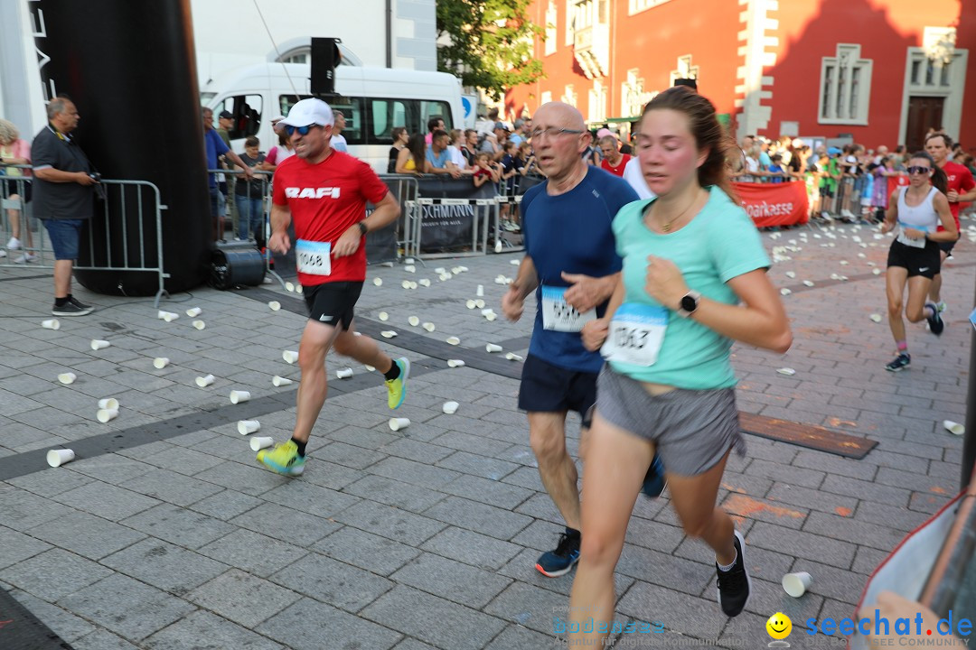
[[[844,43],[837,44],[835,57],[822,59],[820,124],[868,124],[873,65],[861,58],[860,45]]]

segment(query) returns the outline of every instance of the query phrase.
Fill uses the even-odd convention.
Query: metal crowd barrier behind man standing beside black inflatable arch
[[[6,169],[11,169],[7,167]],[[29,170],[29,167],[20,169]],[[0,206],[3,210],[3,232],[0,237],[0,268],[54,269],[55,255],[47,229],[39,224],[26,202],[27,176],[0,176]],[[82,230],[79,249],[87,253],[89,264],[76,263],[76,270],[127,271],[153,273],[158,280],[155,305],[166,293],[164,281],[169,274],[163,271],[162,205],[159,188],[145,180],[117,180],[102,178],[104,198],[96,202],[96,210]],[[14,198],[18,197],[18,198]],[[114,208],[109,214],[109,207]],[[15,230],[11,217],[18,220],[20,249],[8,249],[9,237]],[[105,247],[96,254],[96,238],[104,237]],[[113,253],[111,239],[121,241]],[[119,251],[120,249],[120,251]]]

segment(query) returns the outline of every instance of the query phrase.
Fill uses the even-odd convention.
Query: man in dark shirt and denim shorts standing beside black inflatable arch
[[[92,217],[95,169],[71,137],[81,119],[74,103],[48,103],[48,126],[34,137],[34,213],[44,221],[55,250],[55,316],[85,316],[92,307],[71,295],[71,269],[78,258],[81,227]]]

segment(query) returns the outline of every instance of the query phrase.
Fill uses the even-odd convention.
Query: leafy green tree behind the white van
[[[437,69],[499,99],[543,77],[532,45],[542,28],[527,17],[531,0],[437,0]],[[445,38],[446,37],[446,38]]]

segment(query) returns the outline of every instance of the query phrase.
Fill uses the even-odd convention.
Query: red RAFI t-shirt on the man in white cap
[[[335,246],[350,226],[366,217],[366,202],[378,204],[389,189],[369,165],[341,151],[318,165],[298,156],[285,159],[274,172],[272,201],[292,212],[295,236],[308,242],[328,242]],[[366,280],[366,242],[346,257],[331,257],[332,273],[327,276],[299,273],[305,287],[330,282]],[[298,246],[298,242],[292,242]]]

